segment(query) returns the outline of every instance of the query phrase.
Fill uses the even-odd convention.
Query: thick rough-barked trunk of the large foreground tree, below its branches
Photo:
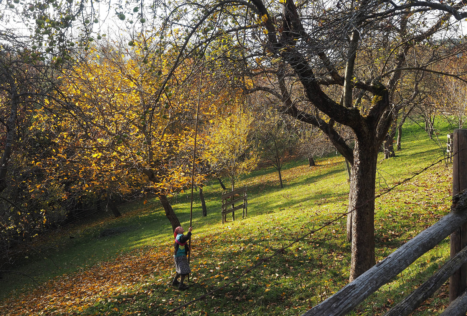
[[[352,281],[375,265],[375,180],[378,148],[368,136],[356,141],[351,170],[349,209],[352,212]]]

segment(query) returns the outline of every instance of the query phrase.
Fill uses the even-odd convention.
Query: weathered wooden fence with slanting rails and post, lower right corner
[[[453,136],[453,204],[451,212],[410,239],[367,272],[341,288],[302,316],[344,316],[368,296],[395,278],[425,252],[451,235],[451,259],[420,287],[384,316],[408,316],[441,287],[448,278],[450,305],[442,316],[465,316],[467,312],[467,129]],[[463,190],[460,192],[460,190]]]

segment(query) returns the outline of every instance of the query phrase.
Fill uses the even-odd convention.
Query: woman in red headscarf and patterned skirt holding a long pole
[[[175,250],[174,250],[174,261],[175,261],[175,278],[172,281],[173,286],[178,285],[179,290],[186,290],[188,287],[183,284],[185,276],[191,272],[190,265],[188,264],[188,248],[187,241],[191,237],[192,227],[188,229],[188,233],[184,235],[185,230],[183,227],[178,226],[174,231],[175,237]],[[178,276],[180,276],[180,282],[178,282]]]

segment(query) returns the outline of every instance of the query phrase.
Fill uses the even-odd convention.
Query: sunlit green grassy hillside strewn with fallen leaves
[[[447,130],[442,122],[439,127]],[[444,141],[446,135],[439,138]],[[443,157],[444,145],[442,149],[429,140],[415,124],[405,127],[402,147],[396,158],[382,160],[380,156],[377,191]],[[139,201],[122,206],[120,218],[108,214],[91,223],[68,226],[53,239],[42,241],[50,245],[48,256],[31,253],[17,270],[43,286],[35,286],[25,276],[7,276],[1,284],[0,310],[10,311],[6,315],[163,315],[173,306],[231,280],[308,228],[345,212],[348,182],[344,159],[338,156],[316,162],[311,168],[304,161],[287,165],[283,189],[273,170],[253,172],[239,181],[239,186],[248,185],[246,219],[240,216],[232,222],[227,217],[228,222],[221,224],[222,191],[217,182],[204,190],[207,217],[201,216],[196,195],[193,273],[191,288],[185,292],[170,286],[173,234],[159,202],[149,199],[146,204]],[[377,260],[446,214],[451,172],[450,166],[440,163],[376,200]],[[187,228],[189,194],[177,196],[173,206]],[[177,315],[302,314],[347,283],[350,245],[345,225],[345,220],[340,220],[326,227],[248,273],[235,286]],[[112,232],[120,233],[110,236]],[[448,248],[445,240],[382,287],[356,313],[383,313],[438,269],[448,258]],[[443,287],[417,315],[438,315],[446,297]]]

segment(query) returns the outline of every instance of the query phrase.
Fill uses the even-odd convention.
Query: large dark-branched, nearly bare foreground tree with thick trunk
[[[214,64],[230,58],[231,67],[224,71],[232,85],[246,93],[270,93],[282,102],[278,109],[283,114],[320,128],[347,158],[352,177],[348,227],[353,280],[375,264],[376,161],[393,122],[392,91],[407,71],[439,72],[435,66],[442,55],[432,61],[422,59],[420,65],[417,58],[408,58],[409,53],[425,43],[435,52],[433,38],[459,32],[455,22],[467,16],[464,6],[464,2],[423,1],[299,7],[290,0],[205,1],[185,7],[177,3],[167,16],[172,23],[166,29],[192,25],[184,30],[180,55],[189,42],[198,43],[198,48],[212,43],[206,61]],[[353,148],[336,131],[336,123],[352,129]]]

